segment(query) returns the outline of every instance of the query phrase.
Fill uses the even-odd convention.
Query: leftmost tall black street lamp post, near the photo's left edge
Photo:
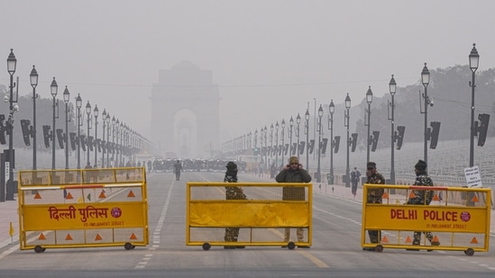
[[[15,112],[15,107],[14,106],[14,73],[15,73],[15,67],[17,65],[17,59],[15,58],[14,55],[14,49],[10,49],[10,54],[9,57],[7,58],[7,71],[10,75],[10,98],[9,98],[9,120],[8,120],[8,130],[9,132],[9,153],[8,159],[9,162],[9,177],[7,180],[7,191],[6,191],[6,196],[5,196],[5,187],[4,184],[0,186],[1,188],[1,193],[0,193],[0,202],[5,202],[7,201],[14,201],[14,112]],[[17,105],[17,103],[15,103]],[[6,159],[6,160],[7,160]],[[6,197],[6,198],[5,198]]]

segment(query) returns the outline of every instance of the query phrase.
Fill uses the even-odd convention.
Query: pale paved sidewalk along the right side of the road
[[[344,200],[362,202],[362,185],[361,184],[358,186],[358,189],[357,189],[355,196],[351,192],[351,187],[345,187],[345,185],[338,185],[338,184],[327,185],[327,184],[321,183],[321,186],[320,186],[319,183],[314,183],[313,184],[313,191],[314,191],[314,193],[333,195],[335,197],[338,197],[338,198],[341,198]],[[495,237],[495,211],[494,210],[490,211],[490,236]]]

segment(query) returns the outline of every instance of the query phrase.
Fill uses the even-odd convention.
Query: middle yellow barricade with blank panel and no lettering
[[[186,217],[186,245],[204,250],[309,247],[312,184],[188,183]]]

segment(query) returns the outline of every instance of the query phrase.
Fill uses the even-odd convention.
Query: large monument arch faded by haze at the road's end
[[[151,91],[151,137],[161,154],[211,157],[219,143],[219,105],[211,70],[188,61],[160,70]]]

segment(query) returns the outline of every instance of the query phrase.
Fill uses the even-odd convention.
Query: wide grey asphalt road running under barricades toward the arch
[[[266,182],[240,174],[243,182]],[[362,251],[361,202],[314,193],[310,249],[186,246],[186,183],[223,181],[223,173],[148,175],[150,245],[47,249],[0,257],[0,277],[495,277],[495,252]],[[295,231],[293,231],[295,232]],[[491,238],[493,239],[493,238]],[[18,244],[18,243],[17,243]],[[7,248],[0,249],[0,253]]]

